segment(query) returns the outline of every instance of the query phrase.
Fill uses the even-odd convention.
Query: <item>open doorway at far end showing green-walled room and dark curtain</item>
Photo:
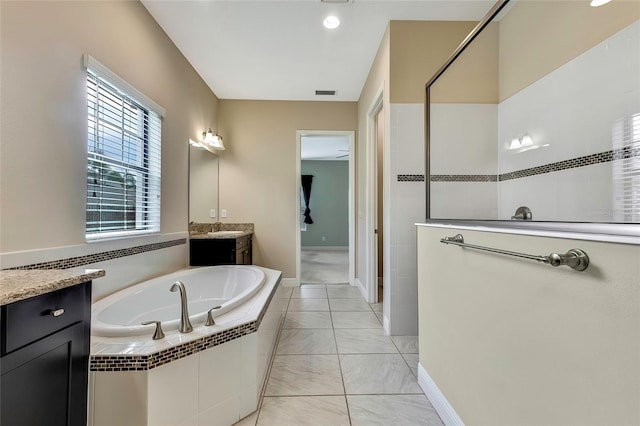
[[[355,134],[326,130],[297,133],[297,281],[353,285]]]

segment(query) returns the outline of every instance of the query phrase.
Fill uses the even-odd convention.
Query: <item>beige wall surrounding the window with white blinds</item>
[[[162,233],[187,229],[187,139],[217,98],[138,2],[1,2],[1,251],[85,243],[89,53],[167,114]]]

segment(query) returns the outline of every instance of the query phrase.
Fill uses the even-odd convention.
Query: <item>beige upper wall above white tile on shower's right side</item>
[[[637,0],[519,1],[500,21],[500,101],[638,19]]]

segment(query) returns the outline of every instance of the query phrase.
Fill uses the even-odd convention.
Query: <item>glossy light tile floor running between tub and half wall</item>
[[[381,305],[349,285],[276,297],[288,309],[264,397],[237,425],[442,425],[416,380],[418,338],[386,336]]]

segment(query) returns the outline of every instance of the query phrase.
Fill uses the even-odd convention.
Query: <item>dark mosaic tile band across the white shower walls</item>
[[[611,151],[600,152],[597,154],[585,155],[583,157],[572,158],[570,160],[557,161],[555,163],[544,164],[542,166],[530,167],[528,169],[517,170],[515,172],[502,173],[500,175],[431,175],[431,182],[502,182],[506,180],[520,179],[529,176],[542,175],[552,172],[560,172],[567,169],[575,169],[577,167],[592,166],[600,163],[609,163],[616,160],[626,160],[630,158],[640,157],[640,146],[627,146]],[[424,175],[398,175],[398,182],[407,182],[407,179],[401,179],[404,176],[421,176]]]

